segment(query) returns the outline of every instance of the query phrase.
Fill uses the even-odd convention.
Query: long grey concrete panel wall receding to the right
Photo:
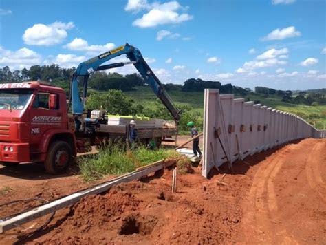
[[[235,160],[309,137],[324,138],[326,130],[318,131],[294,114],[219,94],[219,89],[205,89],[204,177],[224,162],[232,167]]]

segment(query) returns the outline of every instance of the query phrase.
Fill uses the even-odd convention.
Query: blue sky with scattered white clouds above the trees
[[[128,42],[162,83],[326,87],[326,1],[0,0],[0,23],[11,70],[77,66]]]

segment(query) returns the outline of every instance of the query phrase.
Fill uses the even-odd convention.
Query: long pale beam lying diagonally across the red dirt
[[[22,213],[20,215],[10,218],[9,220],[0,222],[0,233],[8,231],[11,228],[19,226],[21,224],[25,224],[27,222],[35,220],[36,218],[47,215],[48,213],[52,213],[59,209],[63,209],[66,206],[69,206],[69,205],[72,205],[72,204],[78,202],[81,198],[85,197],[86,195],[96,195],[96,194],[108,191],[115,184],[129,182],[131,180],[137,180],[139,178],[142,178],[142,177],[148,175],[149,173],[156,172],[160,169],[163,169],[164,167],[169,167],[174,163],[175,162],[173,162],[173,160],[171,160],[170,162],[169,161],[161,162],[160,164],[157,164],[157,162],[155,164],[155,162],[154,162],[154,165],[149,165],[149,166],[145,167],[144,169],[141,169],[138,171],[136,170],[131,173],[127,173],[125,175],[119,176],[118,178],[114,178],[113,180],[109,180],[108,182],[98,184],[95,187],[90,187],[88,189],[78,191],[76,193],[73,193],[72,195],[67,195],[64,198],[60,198],[53,202],[49,202],[47,204],[36,207],[35,209],[32,209],[31,211]]]

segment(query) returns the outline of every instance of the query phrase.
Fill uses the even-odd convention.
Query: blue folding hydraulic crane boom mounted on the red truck
[[[122,54],[126,54],[127,58],[129,58],[130,62],[127,63],[112,63],[109,65],[101,65],[106,61],[109,61],[111,58],[115,58],[116,56],[120,56]],[[72,76],[71,83],[71,98],[72,102],[72,113],[76,115],[83,114],[84,106],[85,106],[85,98],[87,96],[87,83],[89,74],[100,71],[107,70],[115,67],[121,67],[124,65],[133,64],[135,68],[138,70],[140,75],[144,78],[144,80],[149,84],[153,92],[156,94],[158,98],[165,105],[166,109],[169,110],[170,114],[173,116],[174,120],[178,121],[180,119],[181,111],[177,109],[177,107],[173,104],[169,94],[166,93],[162,83],[155,76],[149,65],[146,63],[140,51],[126,43],[126,45],[122,45],[117,47],[116,49],[110,50],[109,52],[105,52],[94,58],[89,59],[83,63],[80,63]],[[80,98],[78,93],[78,78],[83,78],[83,95]]]

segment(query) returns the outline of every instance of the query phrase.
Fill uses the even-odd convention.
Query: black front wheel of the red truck
[[[72,162],[72,147],[65,141],[56,141],[50,145],[44,167],[47,173],[63,173]]]

